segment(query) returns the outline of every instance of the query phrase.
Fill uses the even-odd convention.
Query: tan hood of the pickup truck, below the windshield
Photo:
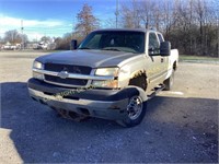
[[[69,50],[38,57],[43,63],[62,63],[99,67],[116,67],[122,61],[135,57],[137,54],[110,50]]]

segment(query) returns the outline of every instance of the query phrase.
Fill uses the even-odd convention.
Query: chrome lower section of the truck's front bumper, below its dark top
[[[33,99],[57,109],[65,109],[85,116],[112,120],[123,119],[127,116],[126,107],[128,105],[128,98],[113,102],[91,101],[83,98],[71,99],[64,98],[61,96],[47,95],[44,92],[39,92],[30,87],[28,93]]]

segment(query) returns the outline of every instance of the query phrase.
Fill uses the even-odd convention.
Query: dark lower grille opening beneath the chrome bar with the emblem
[[[87,85],[88,80],[83,79],[61,79],[59,77],[53,77],[45,74],[45,80],[50,81],[54,83],[60,83],[60,84],[68,84],[68,85]]]

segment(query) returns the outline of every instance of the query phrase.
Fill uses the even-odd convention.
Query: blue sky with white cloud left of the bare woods
[[[72,32],[77,13],[84,3],[93,8],[101,27],[107,27],[107,20],[115,19],[116,0],[1,0],[0,36],[10,30],[21,32],[22,20],[24,34],[30,39],[39,39],[44,35],[62,36]]]

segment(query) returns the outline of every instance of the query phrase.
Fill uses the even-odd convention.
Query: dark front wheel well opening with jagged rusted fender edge
[[[135,86],[139,86],[141,89],[143,89],[146,91],[147,89],[147,75],[146,73],[138,73],[137,75],[134,75],[134,78],[131,78],[129,80],[128,85],[135,85]]]

